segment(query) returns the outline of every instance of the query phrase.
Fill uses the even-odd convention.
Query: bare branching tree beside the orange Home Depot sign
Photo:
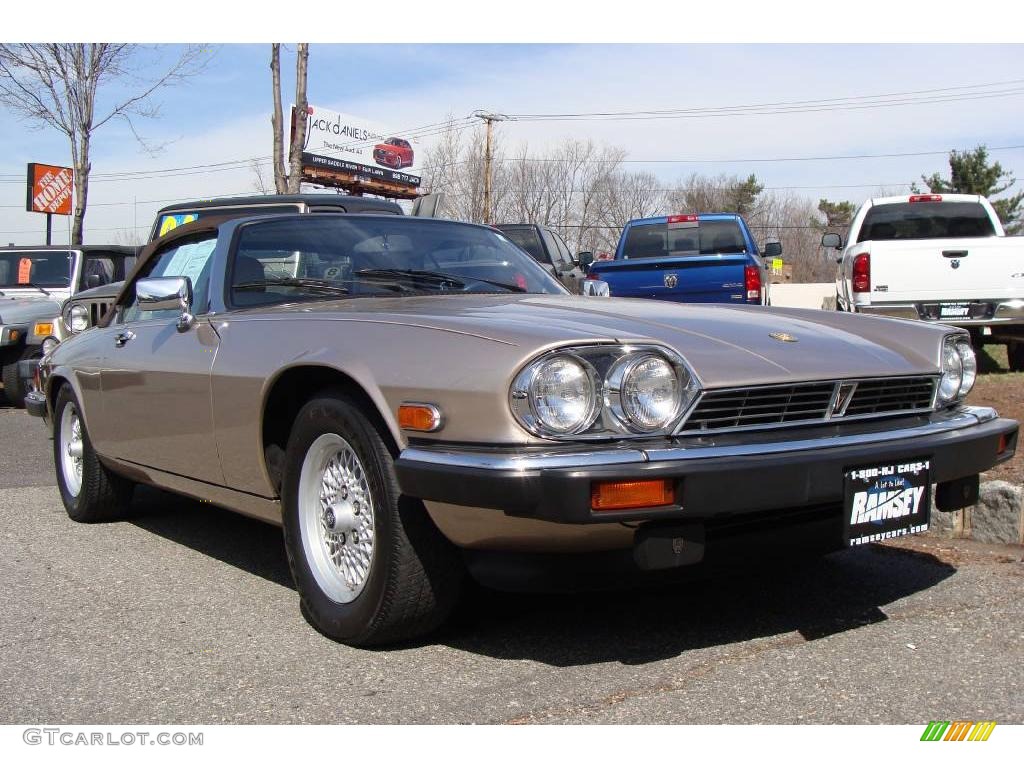
[[[150,77],[139,74],[145,70],[141,52],[142,46],[124,43],[0,45],[0,101],[32,123],[55,128],[71,143],[75,245],[82,243],[85,226],[93,134],[112,120],[123,120],[152,152],[133,119],[156,117],[160,108],[152,101],[154,94],[201,72],[210,49],[185,46]]]

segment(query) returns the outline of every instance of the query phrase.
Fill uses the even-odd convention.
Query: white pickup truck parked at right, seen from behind
[[[956,326],[976,345],[1006,344],[1024,371],[1024,238],[1004,234],[977,195],[874,198],[857,210],[836,257],[836,308]],[[845,246],[845,247],[844,247]]]

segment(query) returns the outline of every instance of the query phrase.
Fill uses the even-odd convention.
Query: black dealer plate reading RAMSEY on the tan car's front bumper
[[[932,486],[928,459],[849,469],[844,480],[849,546],[928,529]]]

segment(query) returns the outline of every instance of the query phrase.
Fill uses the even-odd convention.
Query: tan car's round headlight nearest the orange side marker
[[[594,422],[597,387],[590,367],[583,360],[564,354],[549,357],[527,368],[520,379],[525,381],[517,381],[514,390],[519,396],[527,396],[535,426],[557,434],[573,434]]]

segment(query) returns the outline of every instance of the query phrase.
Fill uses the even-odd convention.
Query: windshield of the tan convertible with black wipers
[[[242,226],[231,258],[233,306],[409,293],[565,293],[501,233],[451,221],[257,221]]]

